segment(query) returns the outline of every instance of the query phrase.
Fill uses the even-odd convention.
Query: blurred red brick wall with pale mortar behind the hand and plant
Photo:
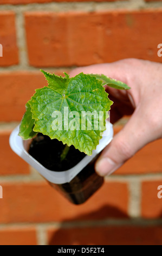
[[[162,62],[162,1],[0,0],[0,245],[162,245],[162,141],[129,160],[75,206],[9,148],[9,135],[44,77],[74,66]],[[127,120],[115,125],[118,132]]]

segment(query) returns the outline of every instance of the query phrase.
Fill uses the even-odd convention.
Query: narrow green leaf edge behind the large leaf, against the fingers
[[[91,76],[96,77],[97,79],[102,81],[102,86],[105,86],[106,84],[109,87],[115,88],[115,89],[121,89],[121,90],[128,90],[131,89],[127,86],[127,84],[122,83],[120,81],[117,81],[115,79],[109,78],[105,75],[98,75],[98,74],[90,74]]]

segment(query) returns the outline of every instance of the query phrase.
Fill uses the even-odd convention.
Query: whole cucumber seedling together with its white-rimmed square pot
[[[27,102],[19,129],[22,139],[15,129],[10,145],[70,202],[82,204],[103,184],[94,163],[113,138],[112,125],[103,135],[113,104],[103,86],[129,87],[104,75],[70,78],[42,72],[48,86],[37,89]]]

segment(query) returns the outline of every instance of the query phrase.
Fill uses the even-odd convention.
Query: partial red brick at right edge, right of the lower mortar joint
[[[158,198],[158,187],[162,179],[142,183],[142,217],[162,218],[162,199]]]

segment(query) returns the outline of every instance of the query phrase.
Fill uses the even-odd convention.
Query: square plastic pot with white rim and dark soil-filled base
[[[106,123],[106,131],[103,133],[103,137],[100,140],[99,145],[96,147],[96,150],[93,150],[92,156],[85,156],[79,163],[76,164],[75,167],[63,172],[57,172],[57,170],[51,171],[42,166],[42,164],[40,164],[31,155],[29,155],[28,149],[31,140],[23,141],[23,139],[20,136],[18,136],[18,132],[19,126],[17,126],[16,129],[12,131],[10,135],[11,149],[25,162],[33,166],[47,181],[49,181],[50,185],[55,187],[57,190],[63,192],[64,196],[67,197],[74,204],[80,204],[85,202],[103,184],[103,178],[99,177],[94,172],[94,162],[100,155],[101,151],[113,139],[113,125],[108,121]],[[89,170],[90,173],[87,174]],[[80,177],[81,173],[84,174],[84,172],[85,176],[87,177],[85,178],[85,180],[80,180],[80,178],[78,177]],[[83,174],[81,175],[82,177]],[[96,181],[97,183],[98,181],[100,182],[99,184],[96,184],[95,188],[93,185]],[[91,185],[89,184],[89,182]],[[75,186],[74,190],[72,184]],[[92,188],[90,188],[90,186]],[[87,190],[87,187],[89,192],[88,194],[83,195],[82,192],[83,190]],[[77,194],[77,192],[79,193]],[[79,194],[80,196],[82,194],[81,198]]]

